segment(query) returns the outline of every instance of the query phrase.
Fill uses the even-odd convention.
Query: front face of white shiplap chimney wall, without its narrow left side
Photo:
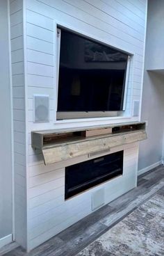
[[[90,214],[97,188],[104,187],[107,203],[136,186],[137,143],[114,150],[124,149],[123,177],[65,201],[65,166],[88,158],[44,166],[41,152],[31,148],[31,131],[138,120],[129,118],[133,100],[141,97],[146,6],[146,0],[26,0],[28,250]],[[56,121],[56,24],[132,54],[123,118]],[[33,122],[33,94],[49,95],[49,123]]]

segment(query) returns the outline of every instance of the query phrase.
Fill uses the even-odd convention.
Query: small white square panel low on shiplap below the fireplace
[[[105,204],[104,188],[92,193],[92,211]]]

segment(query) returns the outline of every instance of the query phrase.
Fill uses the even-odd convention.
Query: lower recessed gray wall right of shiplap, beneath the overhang
[[[141,120],[147,121],[147,140],[139,147],[138,170],[162,159],[164,131],[164,72],[145,71]]]

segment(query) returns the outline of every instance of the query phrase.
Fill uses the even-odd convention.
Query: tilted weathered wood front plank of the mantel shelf
[[[103,138],[97,137],[94,139],[88,138],[81,142],[63,143],[58,147],[50,147],[42,150],[44,163],[50,164],[58,161],[72,159],[84,154],[92,154],[97,152],[100,154],[104,150],[110,152],[110,148],[120,145],[126,145],[137,141],[142,141],[147,138],[144,130],[135,131],[129,134],[121,134],[115,136],[106,136]]]

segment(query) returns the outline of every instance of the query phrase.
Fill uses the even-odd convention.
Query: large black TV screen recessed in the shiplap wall
[[[122,111],[128,55],[60,30],[57,111]]]

